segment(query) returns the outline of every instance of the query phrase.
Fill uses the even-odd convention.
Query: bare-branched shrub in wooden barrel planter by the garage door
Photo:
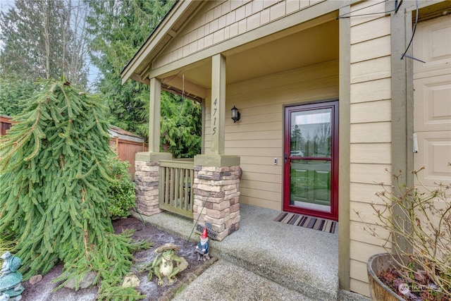
[[[423,169],[412,171],[416,179]],[[365,228],[387,252],[367,263],[371,299],[450,301],[451,184],[407,186],[402,173],[392,176],[376,193],[381,204],[371,204],[378,223]]]

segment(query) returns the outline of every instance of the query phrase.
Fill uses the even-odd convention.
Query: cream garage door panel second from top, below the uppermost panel
[[[451,74],[414,80],[415,130],[451,130]]]

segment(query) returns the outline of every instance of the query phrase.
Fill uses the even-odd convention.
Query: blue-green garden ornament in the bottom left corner
[[[22,294],[24,288],[20,284],[22,274],[18,271],[21,264],[20,258],[11,255],[10,252],[5,252],[0,258],[3,259],[0,270],[0,301],[22,299],[20,294]]]

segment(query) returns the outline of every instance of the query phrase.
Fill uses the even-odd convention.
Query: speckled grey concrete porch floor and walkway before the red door
[[[273,221],[279,213],[240,204],[240,230],[210,241],[219,261],[174,300],[369,300],[338,288],[337,233]],[[192,220],[168,212],[142,217],[184,239],[193,228]]]

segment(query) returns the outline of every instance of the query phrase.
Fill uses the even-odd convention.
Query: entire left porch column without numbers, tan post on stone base
[[[149,99],[149,152],[135,155],[136,207],[147,216],[160,213],[159,167],[161,159],[172,159],[171,153],[160,152],[161,80],[151,78]]]

